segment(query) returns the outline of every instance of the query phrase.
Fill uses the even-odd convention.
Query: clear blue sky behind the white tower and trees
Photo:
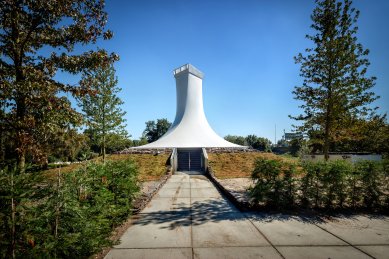
[[[389,110],[389,1],[356,0],[359,41],[370,49],[375,105]],[[174,68],[191,63],[205,73],[204,108],[213,129],[274,141],[299,112],[292,90],[301,83],[293,56],[310,46],[314,1],[107,1],[107,28],[99,47],[120,55],[115,64],[127,129],[139,138],[145,122],[174,120]]]

